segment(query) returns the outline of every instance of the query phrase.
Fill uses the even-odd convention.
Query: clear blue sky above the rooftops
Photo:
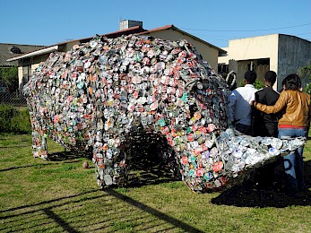
[[[1,0],[0,43],[54,45],[118,30],[123,20],[151,30],[168,24],[217,47],[229,39],[289,34],[311,40],[311,0]]]

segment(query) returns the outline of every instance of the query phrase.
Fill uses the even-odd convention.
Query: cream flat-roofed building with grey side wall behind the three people
[[[247,70],[255,70],[258,80],[263,81],[266,71],[278,74],[274,89],[281,91],[281,81],[289,73],[297,73],[301,66],[311,65],[311,42],[295,36],[272,34],[244,39],[229,40],[227,56],[219,57],[220,73],[234,70],[237,82],[244,80]],[[303,80],[306,86],[307,80]]]

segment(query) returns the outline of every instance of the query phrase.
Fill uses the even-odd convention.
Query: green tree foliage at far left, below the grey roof
[[[0,80],[9,88],[10,92],[16,91],[19,88],[17,66],[0,67]]]

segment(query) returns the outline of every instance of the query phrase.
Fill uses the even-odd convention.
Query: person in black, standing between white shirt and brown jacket
[[[264,88],[255,92],[255,101],[265,105],[274,105],[279,99],[279,92],[272,89],[276,82],[276,73],[268,71],[264,74]],[[253,108],[252,134],[253,136],[278,137],[278,119],[280,114],[266,114]],[[259,188],[273,187],[274,171],[279,161],[273,161],[257,169],[255,184]]]

